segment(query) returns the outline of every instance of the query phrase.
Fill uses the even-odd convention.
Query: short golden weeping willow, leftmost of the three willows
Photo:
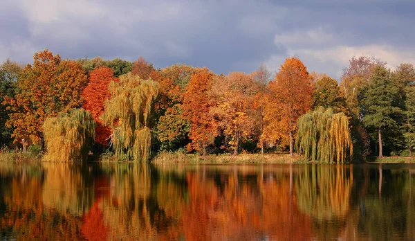
[[[84,109],[46,118],[43,129],[46,161],[79,161],[89,152],[95,139],[95,120]]]

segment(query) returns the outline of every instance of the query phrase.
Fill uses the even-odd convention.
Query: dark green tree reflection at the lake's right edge
[[[414,176],[402,170],[381,170],[382,194],[374,175],[356,216],[358,230],[374,240],[412,240],[415,236]],[[375,172],[376,173],[376,172]]]

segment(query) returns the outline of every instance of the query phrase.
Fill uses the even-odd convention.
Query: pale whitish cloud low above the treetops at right
[[[333,32],[330,26],[294,30],[275,35],[275,45],[285,46],[286,55],[273,54],[266,64],[277,71],[287,56],[297,56],[309,71],[324,72],[340,80],[343,69],[352,57],[367,55],[387,62],[394,70],[403,62],[415,65],[415,48],[398,48],[391,44],[349,45],[344,39],[351,36]],[[375,42],[375,41],[374,41]]]

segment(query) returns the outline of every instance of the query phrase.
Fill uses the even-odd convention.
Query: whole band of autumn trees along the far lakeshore
[[[300,152],[311,161],[411,156],[415,69],[353,57],[341,79],[288,57],[277,73],[216,74],[174,64],[63,60],[0,65],[0,146],[73,161],[111,152],[147,161],[160,152]]]

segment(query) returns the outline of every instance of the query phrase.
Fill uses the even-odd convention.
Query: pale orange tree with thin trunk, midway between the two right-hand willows
[[[239,143],[254,131],[253,97],[257,93],[255,75],[232,72],[216,76],[210,91],[214,105],[210,113],[218,120],[219,127],[229,136],[233,154],[237,155]]]

